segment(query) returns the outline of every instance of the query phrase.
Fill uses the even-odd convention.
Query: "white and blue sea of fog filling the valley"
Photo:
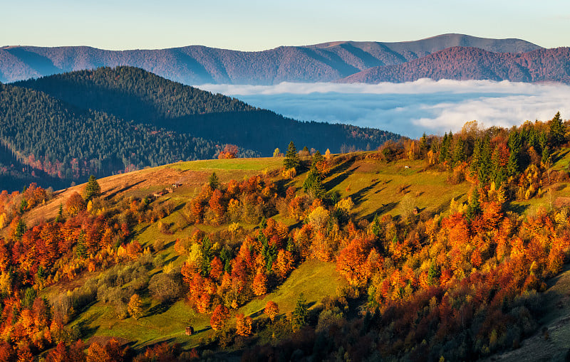
[[[199,85],[256,107],[304,121],[375,127],[408,137],[443,134],[477,120],[484,127],[509,127],[525,120],[570,118],[570,86],[429,80],[405,83]]]

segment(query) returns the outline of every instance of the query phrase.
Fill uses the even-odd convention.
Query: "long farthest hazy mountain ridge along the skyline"
[[[368,68],[407,63],[453,46],[470,46],[499,53],[541,49],[520,39],[477,38],[462,34],[395,43],[337,41],[310,46],[280,46],[255,52],[206,46],[157,50],[8,46],[0,48],[0,82],[118,65],[142,68],[192,85],[329,82]]]

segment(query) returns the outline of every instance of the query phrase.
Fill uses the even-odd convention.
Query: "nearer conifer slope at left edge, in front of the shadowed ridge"
[[[61,179],[209,159],[220,150],[206,139],[73,107],[13,85],[0,85],[0,116],[2,144],[20,162]]]

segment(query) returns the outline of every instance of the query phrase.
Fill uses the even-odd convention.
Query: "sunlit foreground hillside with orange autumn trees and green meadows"
[[[0,193],[0,355],[562,356],[569,125],[470,123],[378,151]]]

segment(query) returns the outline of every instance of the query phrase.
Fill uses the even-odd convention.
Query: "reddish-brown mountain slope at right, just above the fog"
[[[413,82],[421,78],[569,83],[570,48],[538,49],[527,53],[447,48],[408,63],[369,68],[339,82]]]

